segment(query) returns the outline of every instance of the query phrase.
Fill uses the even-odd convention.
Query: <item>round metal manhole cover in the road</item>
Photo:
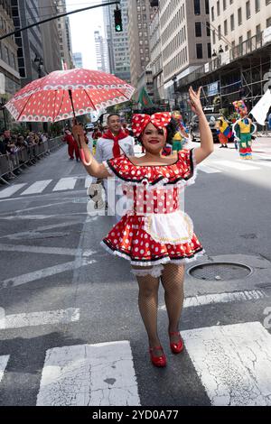
[[[201,263],[188,270],[193,278],[206,281],[241,280],[253,272],[243,263]]]

